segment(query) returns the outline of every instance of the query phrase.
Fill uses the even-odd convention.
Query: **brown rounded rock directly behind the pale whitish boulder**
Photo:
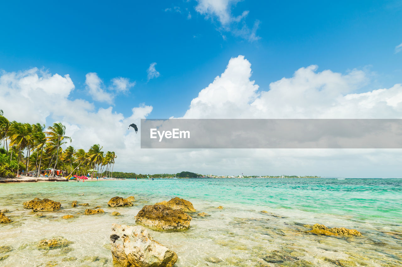
[[[187,229],[191,217],[180,209],[172,209],[165,205],[146,205],[135,216],[137,224],[154,227],[160,230]]]

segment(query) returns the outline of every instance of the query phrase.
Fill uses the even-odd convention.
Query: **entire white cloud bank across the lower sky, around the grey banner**
[[[369,75],[362,70],[342,74],[318,71],[313,65],[266,89],[251,77],[251,64],[244,56],[230,59],[222,75],[199,92],[183,117],[402,118],[402,86],[361,93],[369,83]],[[71,99],[73,90],[68,75],[36,68],[2,72],[0,109],[10,120],[66,124],[74,147],[88,150],[99,143],[104,151],[115,151],[115,171],[400,176],[399,149],[140,149],[141,131],[136,134],[127,126],[140,125],[152,106],[133,106],[131,114],[124,116],[112,107],[96,108],[83,99]]]

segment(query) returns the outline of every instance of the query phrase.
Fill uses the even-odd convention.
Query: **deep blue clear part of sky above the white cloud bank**
[[[249,13],[230,27],[244,24],[251,29],[258,20],[256,41],[220,29],[219,19],[206,18],[196,5],[3,2],[0,68],[10,72],[43,67],[68,73],[76,86],[72,97],[82,98],[89,98],[84,92],[88,72],[96,72],[106,84],[113,77],[127,77],[136,85],[116,99],[115,110],[127,115],[144,102],[154,107],[152,118],[183,116],[200,89],[239,54],[250,61],[252,79],[265,90],[269,83],[311,64],[335,72],[369,68],[378,88],[400,83],[402,53],[395,54],[394,48],[402,42],[401,1],[232,3],[234,17]],[[160,76],[147,81],[152,62]]]

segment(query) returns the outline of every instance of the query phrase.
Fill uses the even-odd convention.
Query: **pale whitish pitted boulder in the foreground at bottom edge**
[[[112,225],[113,264],[124,267],[172,267],[177,255],[155,241],[143,226]]]

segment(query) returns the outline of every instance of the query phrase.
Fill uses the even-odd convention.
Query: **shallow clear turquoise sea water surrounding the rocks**
[[[83,194],[83,196],[80,196]],[[110,208],[111,197],[135,196],[133,207]],[[189,266],[402,266],[402,180],[398,179],[160,179],[0,184],[0,209],[13,220],[0,225],[0,266],[112,266],[111,224],[135,225],[143,205],[172,197],[191,201],[191,228],[156,232],[155,240]],[[62,203],[35,217],[22,203],[34,197]],[[89,203],[103,215],[80,215]],[[224,209],[216,209],[222,205]],[[261,213],[266,210],[269,213]],[[119,211],[123,216],[113,217]],[[271,214],[272,213],[272,214]],[[63,215],[76,215],[61,219]],[[362,237],[308,233],[306,224],[357,229]],[[42,239],[62,236],[67,249],[39,250]],[[95,256],[95,257],[93,257]],[[90,258],[92,257],[92,258]],[[64,261],[62,261],[64,259]],[[70,261],[66,261],[70,259]]]

